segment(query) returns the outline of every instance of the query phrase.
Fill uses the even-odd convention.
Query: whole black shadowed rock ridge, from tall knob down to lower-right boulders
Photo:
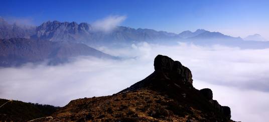
[[[168,56],[158,55],[154,60],[155,71],[120,93],[149,88],[176,99],[182,104],[189,104],[202,111],[211,111],[219,114],[222,119],[230,119],[229,107],[221,106],[217,100],[213,100],[212,90],[209,88],[197,90],[192,85],[192,74],[189,68],[179,61],[174,61]],[[199,103],[196,103],[198,102]],[[225,110],[224,110],[225,109]]]

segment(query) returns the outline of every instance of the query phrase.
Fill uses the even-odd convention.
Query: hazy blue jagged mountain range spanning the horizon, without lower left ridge
[[[154,44],[178,44],[178,42],[196,45],[223,45],[243,49],[269,48],[269,42],[244,41],[240,37],[231,37],[219,32],[198,29],[195,32],[184,31],[180,34],[156,31],[152,29],[133,29],[118,26],[110,32],[94,29],[90,24],[76,22],[48,21],[33,28],[10,25],[0,18],[0,39],[31,38],[53,42],[82,43],[96,46],[129,46],[133,43],[149,42]]]

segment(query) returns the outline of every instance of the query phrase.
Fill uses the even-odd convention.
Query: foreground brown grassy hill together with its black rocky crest
[[[179,61],[158,55],[154,67],[118,93],[70,101],[52,121],[233,121],[230,108],[213,100],[211,89],[193,87],[190,69]]]

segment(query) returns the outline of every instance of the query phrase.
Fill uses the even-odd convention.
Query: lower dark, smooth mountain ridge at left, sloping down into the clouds
[[[50,64],[57,64],[76,56],[115,58],[85,44],[23,38],[0,40],[0,67],[20,66],[28,62],[37,63],[45,60],[49,60]]]

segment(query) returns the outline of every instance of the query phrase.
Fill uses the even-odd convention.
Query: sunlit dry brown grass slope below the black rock
[[[168,98],[153,90],[72,100],[52,116],[53,121],[186,121],[169,109]],[[188,114],[188,113],[186,113]]]

